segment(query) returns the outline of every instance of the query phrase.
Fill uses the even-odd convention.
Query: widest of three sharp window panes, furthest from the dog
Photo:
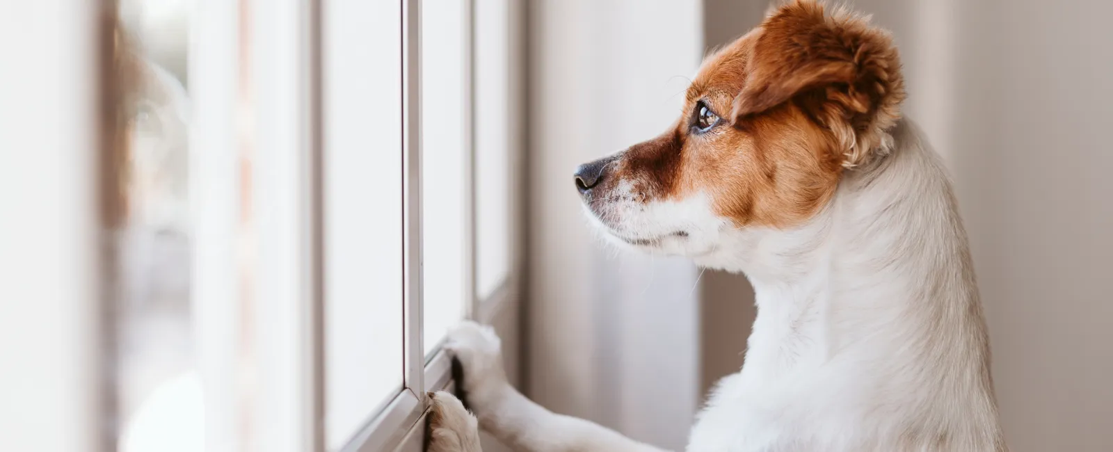
[[[326,441],[402,389],[400,2],[324,13]]]

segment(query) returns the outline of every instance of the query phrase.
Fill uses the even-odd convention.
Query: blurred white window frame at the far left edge
[[[104,320],[108,161],[100,1],[4,4],[0,50],[0,450],[112,448]],[[110,60],[109,60],[110,61]]]

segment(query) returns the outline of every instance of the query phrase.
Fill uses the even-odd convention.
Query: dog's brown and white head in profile
[[[731,232],[808,222],[886,151],[903,99],[887,32],[795,1],[705,60],[672,127],[581,165],[575,185],[610,236],[698,258]]]

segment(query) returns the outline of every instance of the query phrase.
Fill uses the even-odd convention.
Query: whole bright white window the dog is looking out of
[[[36,190],[0,199],[62,206],[3,225],[6,249],[57,249],[23,271],[45,302],[0,323],[61,356],[0,376],[16,406],[46,401],[12,412],[40,415],[4,449],[420,446],[425,391],[451,384],[445,332],[514,281],[511,2],[102,0],[22,11],[23,28],[0,17],[6,41],[37,39],[0,89],[53,99],[4,91],[20,106],[4,117],[30,121],[0,147],[43,151],[4,155],[0,191]],[[37,380],[57,395],[22,397]]]

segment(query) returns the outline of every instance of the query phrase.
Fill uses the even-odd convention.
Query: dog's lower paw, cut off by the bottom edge
[[[429,393],[427,452],[482,452],[479,421],[452,394]]]

